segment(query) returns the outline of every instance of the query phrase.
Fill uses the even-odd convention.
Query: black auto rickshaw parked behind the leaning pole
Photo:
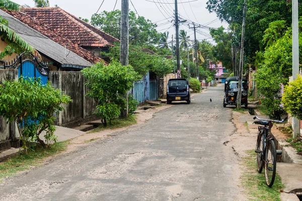
[[[223,108],[227,105],[236,105],[237,107],[238,83],[238,77],[228,77],[225,79]],[[244,105],[245,108],[248,107],[248,81],[246,78],[242,79],[241,105]]]

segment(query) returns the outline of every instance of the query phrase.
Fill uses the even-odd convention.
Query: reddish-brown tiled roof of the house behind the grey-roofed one
[[[108,50],[114,42],[120,42],[59,7],[24,8],[22,12],[96,56]]]

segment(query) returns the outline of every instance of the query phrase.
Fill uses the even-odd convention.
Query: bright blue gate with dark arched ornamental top
[[[41,78],[43,84],[47,84],[49,69],[43,66],[38,59],[31,53],[22,53],[11,65],[9,61],[5,61],[4,69],[18,69],[19,77]]]

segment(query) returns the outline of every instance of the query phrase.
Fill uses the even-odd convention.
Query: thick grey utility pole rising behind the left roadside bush
[[[121,48],[120,48],[120,63],[127,66],[129,56],[129,0],[122,0],[121,7]],[[127,111],[128,118],[128,91],[127,91]]]

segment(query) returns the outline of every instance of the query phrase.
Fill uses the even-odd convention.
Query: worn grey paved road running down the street
[[[222,93],[210,87],[190,105],[14,177],[0,184],[0,200],[238,200]]]

